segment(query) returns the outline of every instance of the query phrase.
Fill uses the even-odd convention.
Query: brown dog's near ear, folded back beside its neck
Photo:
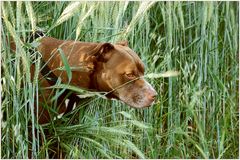
[[[114,49],[114,46],[111,43],[101,43],[95,49],[93,55],[97,58],[98,61],[106,62],[109,59],[109,51]]]

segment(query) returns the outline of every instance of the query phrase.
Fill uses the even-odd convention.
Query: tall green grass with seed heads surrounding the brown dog
[[[48,150],[57,144],[66,158],[238,158],[238,6],[1,2],[1,157],[49,158]],[[29,71],[32,63],[39,65],[39,53],[30,56],[24,43],[39,29],[66,40],[128,40],[146,74],[177,70],[180,75],[148,79],[158,92],[151,108],[131,109],[95,95],[71,115],[41,126],[34,115],[39,67],[34,81]],[[15,54],[9,50],[10,37]],[[44,129],[52,136],[45,136]]]

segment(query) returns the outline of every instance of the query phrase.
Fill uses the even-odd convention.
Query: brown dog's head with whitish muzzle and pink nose
[[[157,93],[143,78],[144,64],[127,42],[101,44],[95,55],[95,83],[100,91],[112,91],[108,98],[134,108],[148,107],[154,102]]]

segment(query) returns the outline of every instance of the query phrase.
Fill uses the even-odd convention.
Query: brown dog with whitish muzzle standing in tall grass
[[[49,79],[57,77],[61,78],[62,83],[80,88],[112,91],[107,95],[108,98],[118,99],[134,108],[150,106],[157,95],[153,87],[142,78],[144,65],[138,55],[128,47],[127,42],[89,43],[43,37],[38,51],[51,71],[50,76],[41,72],[41,87],[52,86],[55,82],[51,83]],[[72,77],[68,77],[67,72],[60,69],[64,68],[61,57],[63,53],[71,67]],[[31,69],[34,71],[34,66]],[[51,92],[52,90],[44,90],[39,97],[39,123],[49,121],[49,113],[41,106],[41,102],[46,101]],[[58,103],[58,113],[67,110],[63,99]]]

